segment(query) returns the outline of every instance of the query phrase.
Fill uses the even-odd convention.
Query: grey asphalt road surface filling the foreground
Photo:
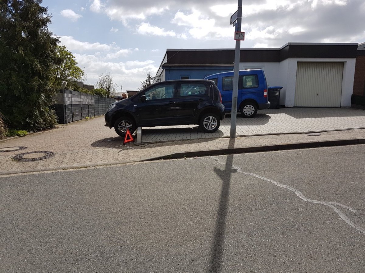
[[[0,177],[0,272],[365,272],[365,145]]]

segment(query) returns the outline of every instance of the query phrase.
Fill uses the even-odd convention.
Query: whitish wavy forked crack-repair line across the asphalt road
[[[220,162],[218,158],[214,158],[214,157],[211,157],[212,159],[214,159],[215,161],[217,161],[219,164],[222,164],[222,165],[225,165],[226,163],[224,162]],[[281,183],[278,183],[274,180],[271,180],[271,179],[268,179],[266,177],[262,177],[260,175],[257,175],[257,174],[254,174],[254,173],[245,173],[244,171],[241,170],[240,167],[238,166],[235,166],[235,165],[231,165],[234,169],[236,169],[239,173],[242,173],[242,174],[247,174],[247,175],[251,175],[251,176],[254,176],[254,177],[257,177],[257,178],[260,178],[262,180],[265,180],[265,181],[268,181],[268,182],[271,182],[273,183],[274,185],[276,186],[279,186],[279,187],[282,187],[284,189],[288,189],[288,190],[291,190],[293,193],[295,193],[300,199],[303,199],[304,201],[307,201],[307,202],[310,202],[310,203],[315,203],[315,204],[320,204],[320,205],[324,205],[324,206],[328,206],[328,207],[331,207],[335,213],[337,213],[339,215],[339,217],[341,217],[341,219],[343,221],[345,221],[348,225],[352,226],[354,229],[357,229],[358,231],[362,232],[362,233],[365,233],[365,229],[364,227],[361,227],[359,225],[357,225],[356,223],[352,222],[345,214],[342,213],[341,210],[337,209],[337,207],[335,207],[334,205],[336,206],[341,206],[345,209],[348,209],[350,211],[353,211],[353,212],[356,212],[357,210],[355,209],[352,209],[351,207],[348,207],[348,206],[345,206],[345,205],[342,205],[340,203],[337,203],[337,202],[324,202],[324,201],[318,201],[318,200],[314,200],[314,199],[309,199],[307,197],[305,197],[299,190],[296,190],[294,189],[293,187],[291,186],[288,186],[288,185],[284,185],[284,184],[281,184]]]

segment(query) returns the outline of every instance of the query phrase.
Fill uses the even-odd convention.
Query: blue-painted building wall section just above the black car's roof
[[[182,76],[189,76],[189,79],[203,79],[206,76],[233,71],[234,66],[214,66],[214,67],[166,67],[165,80],[180,80]]]

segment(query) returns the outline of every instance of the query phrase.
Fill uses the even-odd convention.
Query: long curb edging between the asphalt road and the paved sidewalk
[[[0,173],[1,175],[13,175],[13,174],[32,174],[45,171],[58,171],[58,170],[76,170],[91,167],[105,167],[105,166],[116,166],[116,165],[126,165],[138,162],[148,162],[156,160],[167,160],[167,159],[178,159],[178,158],[192,158],[192,157],[204,157],[204,156],[215,156],[215,155],[225,155],[225,154],[244,154],[244,153],[259,153],[267,151],[284,151],[284,150],[295,150],[295,149],[308,149],[308,148],[319,148],[319,147],[333,147],[333,146],[346,146],[346,145],[357,145],[365,144],[365,138],[360,139],[340,139],[333,141],[316,141],[316,142],[298,142],[298,143],[285,143],[279,145],[269,145],[269,146],[252,146],[252,147],[241,147],[241,148],[228,148],[228,149],[218,149],[218,150],[202,150],[202,151],[190,151],[185,153],[174,153],[169,155],[163,155],[160,157],[153,157],[142,159],[138,161],[130,162],[114,162],[114,163],[104,163],[104,164],[91,164],[91,165],[79,165],[79,166],[69,166],[69,167],[56,167],[49,169],[39,169],[31,171],[13,171]]]

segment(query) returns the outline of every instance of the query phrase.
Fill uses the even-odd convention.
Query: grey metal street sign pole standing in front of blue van
[[[236,31],[241,31],[242,23],[242,0],[238,0]],[[236,50],[234,53],[234,72],[233,72],[233,92],[232,92],[232,111],[231,111],[231,132],[230,138],[236,137],[236,120],[237,120],[237,95],[238,95],[238,74],[239,74],[239,56],[241,51],[241,41],[236,40]]]

